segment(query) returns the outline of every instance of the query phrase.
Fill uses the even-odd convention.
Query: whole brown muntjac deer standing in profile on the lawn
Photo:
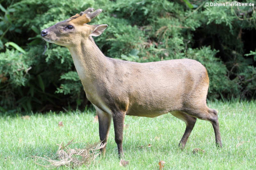
[[[123,155],[124,116],[156,117],[166,113],[186,123],[179,147],[184,148],[196,118],[212,123],[216,144],[222,147],[218,115],[206,106],[209,78],[205,67],[191,59],[135,63],[108,58],[92,36],[108,25],[87,25],[102,10],[76,14],[41,32],[42,38],[69,49],[88,100],[99,118],[102,143],[113,119],[119,156]],[[103,155],[106,148],[101,149]]]

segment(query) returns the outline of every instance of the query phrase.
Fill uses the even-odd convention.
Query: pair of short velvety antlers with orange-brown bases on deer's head
[[[85,24],[87,22],[90,22],[92,18],[95,18],[97,15],[102,12],[102,9],[97,9],[94,11],[94,8],[88,8],[85,11],[80,12],[80,14],[76,14],[69,19],[72,19],[70,22],[73,22],[74,24]]]

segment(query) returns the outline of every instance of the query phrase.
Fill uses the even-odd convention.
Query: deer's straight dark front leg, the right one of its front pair
[[[125,113],[113,112],[113,123],[115,129],[115,141],[118,149],[119,158],[123,156],[123,129],[124,129],[124,116]]]

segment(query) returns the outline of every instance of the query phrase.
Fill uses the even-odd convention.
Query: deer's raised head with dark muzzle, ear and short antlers
[[[88,25],[92,18],[100,14],[102,9],[93,12],[93,8],[80,12],[64,21],[42,30],[42,38],[50,43],[65,47],[75,47],[89,36],[99,36],[108,25]]]

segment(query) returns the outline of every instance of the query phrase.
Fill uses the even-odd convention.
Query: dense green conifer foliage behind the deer
[[[255,98],[255,6],[205,6],[202,0],[0,2],[2,111],[85,106],[68,49],[45,43],[39,34],[88,7],[104,10],[89,24],[109,25],[95,38],[106,56],[136,62],[196,59],[208,70],[209,99]]]

